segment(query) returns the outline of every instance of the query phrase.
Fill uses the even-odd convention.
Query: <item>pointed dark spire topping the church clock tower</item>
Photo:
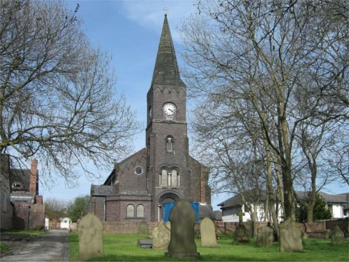
[[[165,15],[151,85],[177,85],[178,82],[182,83],[179,78],[176,53],[174,52],[170,27],[168,26],[168,17]]]

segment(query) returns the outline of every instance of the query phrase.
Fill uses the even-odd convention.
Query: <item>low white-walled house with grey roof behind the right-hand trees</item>
[[[325,192],[319,192],[322,196],[327,206],[332,210],[333,218],[348,217],[348,207],[349,207],[349,193],[344,194],[327,194]],[[257,207],[257,219],[256,221],[263,221],[265,219],[265,208],[264,194],[261,194],[261,201]],[[247,208],[245,207],[242,198],[239,194],[230,197],[221,203],[218,203],[217,206],[221,206],[222,210],[222,219],[223,222],[239,222],[239,211],[242,210],[242,221],[247,222],[251,220],[251,215],[248,213]],[[279,209],[278,220],[279,222],[283,219],[281,210]]]

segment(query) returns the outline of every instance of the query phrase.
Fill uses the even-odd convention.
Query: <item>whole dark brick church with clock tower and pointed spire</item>
[[[114,164],[103,185],[91,185],[89,212],[101,221],[158,222],[164,204],[197,202],[213,215],[209,169],[189,155],[186,86],[179,76],[167,15],[147,93],[146,147]]]

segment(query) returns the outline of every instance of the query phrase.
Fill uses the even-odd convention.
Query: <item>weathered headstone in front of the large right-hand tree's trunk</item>
[[[280,229],[280,251],[281,252],[302,252],[302,230],[300,224],[286,219],[279,224]]]

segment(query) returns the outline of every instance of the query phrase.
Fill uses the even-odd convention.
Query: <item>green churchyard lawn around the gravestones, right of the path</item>
[[[183,261],[164,256],[164,251],[137,247],[140,235],[105,234],[104,256],[91,261]],[[70,233],[70,261],[77,261],[77,233]],[[218,247],[200,247],[195,240],[200,261],[349,261],[348,240],[341,245],[332,245],[331,240],[305,239],[304,252],[279,252],[279,244],[272,247],[255,247],[255,240],[249,245],[233,245],[232,238],[225,236],[217,240]],[[186,260],[187,261],[187,260]]]

